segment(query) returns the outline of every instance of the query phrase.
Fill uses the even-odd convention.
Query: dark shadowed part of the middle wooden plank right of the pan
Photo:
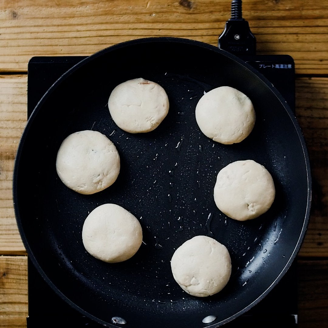
[[[296,80],[296,116],[310,156],[312,207],[300,256],[328,256],[328,79]]]

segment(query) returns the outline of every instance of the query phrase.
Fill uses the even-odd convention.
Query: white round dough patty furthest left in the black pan
[[[56,169],[68,188],[89,195],[114,183],[120,171],[120,158],[116,147],[104,134],[79,131],[62,142]]]

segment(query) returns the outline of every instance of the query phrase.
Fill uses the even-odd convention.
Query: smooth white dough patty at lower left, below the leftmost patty
[[[142,242],[142,229],[137,218],[116,204],[96,207],[82,228],[85,249],[94,257],[109,263],[132,257]]]

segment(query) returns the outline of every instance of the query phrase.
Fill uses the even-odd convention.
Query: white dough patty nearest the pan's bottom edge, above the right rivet
[[[227,284],[231,259],[227,248],[215,239],[195,236],[174,252],[171,269],[185,292],[205,297],[218,293]]]

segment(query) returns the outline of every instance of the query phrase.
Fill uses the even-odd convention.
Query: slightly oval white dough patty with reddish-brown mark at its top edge
[[[157,128],[169,111],[169,99],[157,83],[137,78],[112,91],[108,108],[116,125],[130,133]]]

